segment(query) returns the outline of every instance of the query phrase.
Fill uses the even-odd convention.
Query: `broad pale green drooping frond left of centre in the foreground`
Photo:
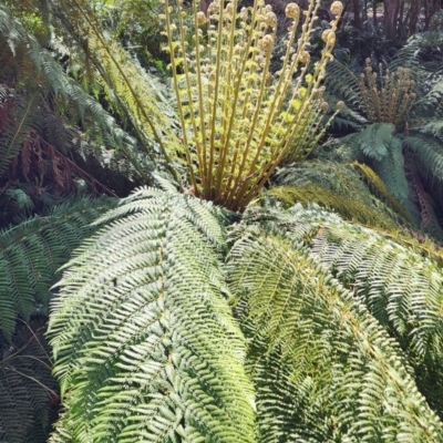
[[[65,412],[51,441],[254,442],[219,210],[140,189],[105,217],[52,305]]]

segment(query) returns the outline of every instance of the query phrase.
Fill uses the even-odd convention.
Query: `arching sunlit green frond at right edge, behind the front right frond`
[[[247,222],[298,247],[305,244],[401,346],[420,391],[443,415],[442,250],[404,231],[374,233],[318,207],[296,205],[286,214]],[[237,235],[239,236],[239,235]]]

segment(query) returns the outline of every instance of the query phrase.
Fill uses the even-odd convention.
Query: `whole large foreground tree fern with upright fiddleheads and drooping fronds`
[[[89,74],[103,97],[124,110],[120,115],[145,142],[147,156],[162,158],[158,166],[167,158],[174,171],[187,164],[190,187],[182,195],[157,178],[165,190],[142,187],[116,207],[86,199],[0,233],[0,439],[45,439],[59,399],[53,369],[62,401],[53,443],[443,441],[443,254],[396,230],[410,218],[403,194],[387,196],[361,164],[352,173],[312,166],[317,181],[306,164],[278,174],[290,189],[268,192],[262,206],[251,203],[276,167],[305,158],[323,131],[321,82],[337,19],[309,75],[307,45],[319,1],[308,1],[305,14],[288,4],[287,53],[271,79],[276,19],[261,1],[243,11],[235,1],[215,1],[208,18],[193,3],[190,20],[203,28],[187,33],[189,18],[166,0],[179,138],[157,124],[168,119],[157,115],[148,91],[143,94],[145,76],[89,16],[86,0],[40,3],[54,30],[63,23],[79,42],[89,35],[87,68],[96,70]],[[339,2],[332,12],[341,12]],[[0,14],[0,25],[24,29],[11,20]],[[4,32],[12,35],[11,29]],[[20,60],[44,66],[28,92],[44,81],[55,96],[68,93],[64,103],[103,121],[97,102],[27,35],[16,35],[29,43],[20,44]],[[17,65],[11,51],[8,56]],[[437,137],[437,127],[429,135]],[[374,162],[392,150],[401,155],[389,123],[373,123],[364,136],[377,143],[354,142]],[[415,154],[418,138],[412,142]],[[142,156],[131,156],[134,167]],[[142,177],[150,174],[143,162],[137,167]],[[333,172],[346,184],[320,177]],[[306,206],[293,206],[303,183],[311,193],[323,189],[316,197],[323,206],[348,186],[352,193],[334,207],[373,229],[310,205],[309,196]],[[44,317],[42,328],[35,318],[47,313],[50,298],[52,354]]]

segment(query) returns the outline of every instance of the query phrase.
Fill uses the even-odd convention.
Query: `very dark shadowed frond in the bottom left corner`
[[[59,394],[51,377],[44,322],[19,322],[12,342],[0,334],[0,441],[45,443]]]

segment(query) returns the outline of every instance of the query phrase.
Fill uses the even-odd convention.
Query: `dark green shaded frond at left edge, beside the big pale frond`
[[[56,270],[96,229],[90,223],[112,206],[109,199],[74,200],[0,231],[0,330],[7,339],[17,317],[28,320],[37,307],[48,312]]]

